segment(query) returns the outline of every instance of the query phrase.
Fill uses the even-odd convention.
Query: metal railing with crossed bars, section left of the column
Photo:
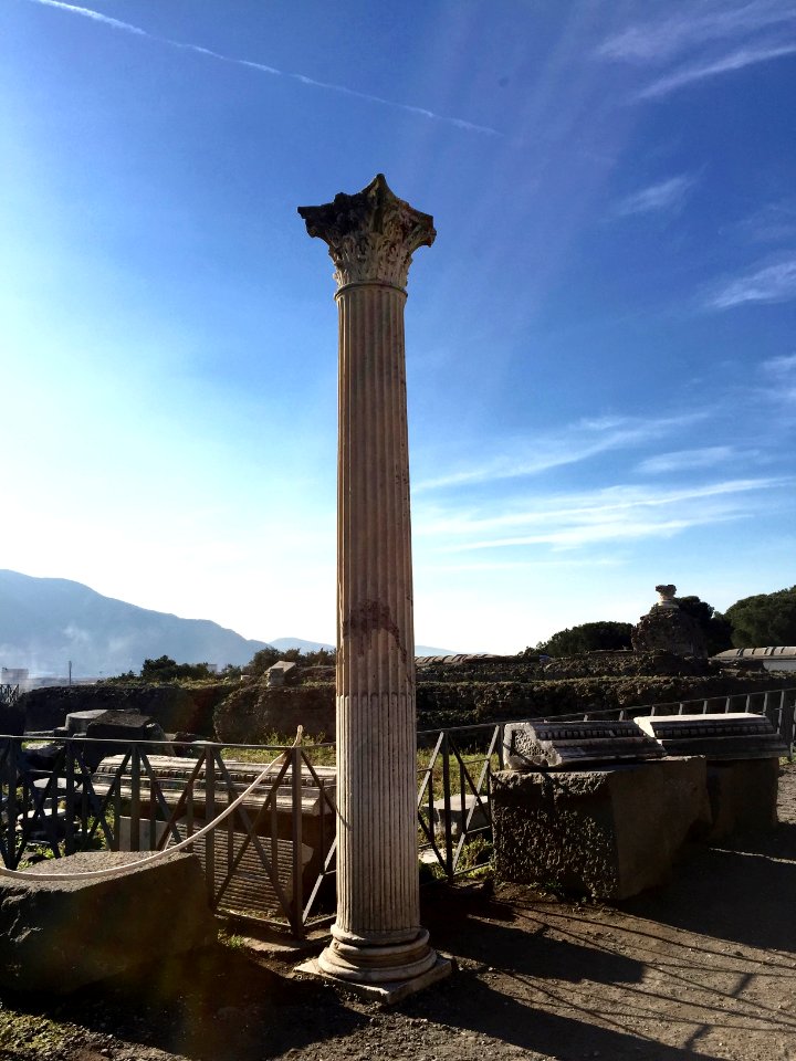
[[[46,742],[46,761],[42,746],[0,738],[7,869],[97,848],[168,850],[214,821],[276,756],[252,795],[192,845],[208,900],[218,912],[286,923],[296,936],[331,916],[333,905],[317,907],[335,873],[334,779],[304,747],[258,747],[263,761],[252,764],[234,759],[240,746],[210,743],[64,737]],[[163,755],[189,747],[190,758]]]

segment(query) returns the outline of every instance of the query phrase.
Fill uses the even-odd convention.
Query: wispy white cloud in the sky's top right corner
[[[789,0],[713,0],[677,6],[666,19],[629,25],[596,51],[603,60],[667,69],[637,98],[664,96],[693,82],[796,53]]]

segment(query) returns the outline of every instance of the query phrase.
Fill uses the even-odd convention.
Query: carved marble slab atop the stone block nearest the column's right
[[[512,722],[503,727],[503,749],[513,770],[576,770],[582,764],[639,763],[663,754],[658,742],[629,719]]]

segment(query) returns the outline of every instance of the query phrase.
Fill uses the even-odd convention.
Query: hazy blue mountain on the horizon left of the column
[[[179,619],[103,597],[65,578],[0,570],[0,665],[31,675],[74,677],[138,671],[145,659],[241,665],[264,641],[249,641],[207,619]]]

